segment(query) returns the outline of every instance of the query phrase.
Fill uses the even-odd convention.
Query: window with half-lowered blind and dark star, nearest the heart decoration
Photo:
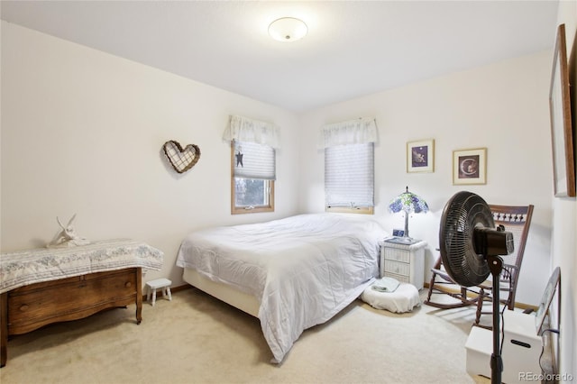
[[[231,213],[274,211],[275,150],[256,142],[231,142]]]

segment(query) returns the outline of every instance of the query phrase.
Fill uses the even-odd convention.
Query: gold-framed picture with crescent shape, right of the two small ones
[[[487,148],[453,151],[453,185],[487,184]]]

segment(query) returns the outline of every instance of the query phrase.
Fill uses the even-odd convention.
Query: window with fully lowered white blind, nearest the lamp
[[[373,142],[325,148],[326,211],[372,214],[373,186]]]

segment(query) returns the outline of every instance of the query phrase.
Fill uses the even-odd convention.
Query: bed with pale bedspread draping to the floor
[[[258,317],[279,363],[378,276],[386,235],[366,215],[295,215],[189,233],[176,263],[192,286]]]

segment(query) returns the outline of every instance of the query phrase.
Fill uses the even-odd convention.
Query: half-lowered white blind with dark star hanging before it
[[[276,179],[275,150],[256,142],[234,141],[234,177]]]

